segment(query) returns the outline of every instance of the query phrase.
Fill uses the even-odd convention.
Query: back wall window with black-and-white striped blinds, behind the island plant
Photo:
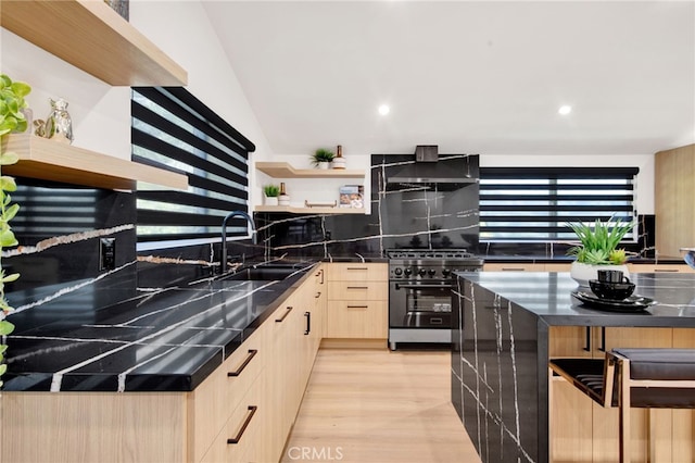
[[[481,167],[480,241],[576,239],[568,222],[632,221],[636,167]],[[626,239],[634,239],[628,234]]]

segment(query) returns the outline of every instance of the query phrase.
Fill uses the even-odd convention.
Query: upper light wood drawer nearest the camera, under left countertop
[[[231,412],[239,405],[264,366],[268,345],[260,327],[190,395],[191,461],[200,461]]]

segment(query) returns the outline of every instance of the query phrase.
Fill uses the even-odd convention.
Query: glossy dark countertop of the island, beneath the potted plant
[[[572,297],[579,288],[569,273],[459,273],[491,292],[532,312],[548,325],[695,327],[695,274],[635,273],[635,296],[656,301],[643,311],[611,312],[584,306]]]

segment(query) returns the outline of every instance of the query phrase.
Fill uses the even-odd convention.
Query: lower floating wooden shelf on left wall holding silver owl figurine
[[[16,164],[2,167],[2,173],[8,175],[106,189],[135,190],[137,182],[181,190],[188,188],[186,175],[35,135],[11,135],[2,147],[2,151],[5,150],[20,155]]]

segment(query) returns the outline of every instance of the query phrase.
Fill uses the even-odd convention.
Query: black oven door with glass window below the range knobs
[[[451,328],[450,281],[390,281],[390,328]]]

